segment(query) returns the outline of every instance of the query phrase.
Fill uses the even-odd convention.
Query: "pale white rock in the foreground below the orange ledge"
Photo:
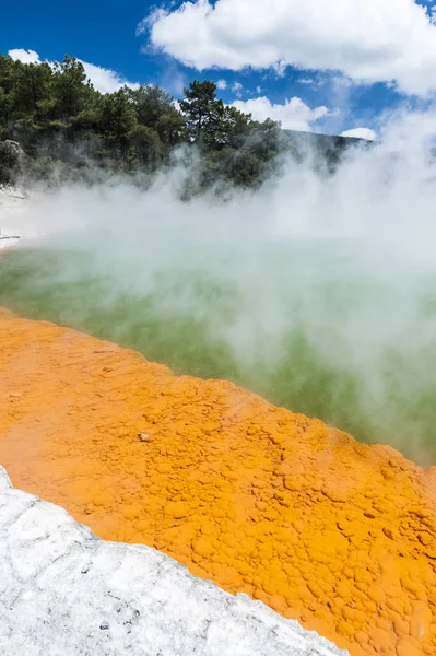
[[[315,632],[143,546],[105,542],[0,467],[2,656],[333,656]]]

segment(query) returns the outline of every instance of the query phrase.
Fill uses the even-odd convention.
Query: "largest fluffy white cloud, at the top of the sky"
[[[199,70],[285,66],[357,82],[436,89],[436,25],[414,0],[195,0],[142,22],[152,44]]]

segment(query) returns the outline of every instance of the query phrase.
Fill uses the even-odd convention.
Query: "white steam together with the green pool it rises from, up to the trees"
[[[401,117],[332,176],[308,154],[225,201],[181,202],[182,163],[145,192],[40,196],[23,221],[47,236],[2,257],[0,304],[435,464],[435,125]]]

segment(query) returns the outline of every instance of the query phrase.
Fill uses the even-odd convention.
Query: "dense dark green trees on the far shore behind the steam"
[[[50,66],[0,55],[0,183],[91,180],[96,172],[146,178],[181,144],[196,162],[190,192],[256,187],[280,168],[280,155],[298,156],[279,122],[225,105],[213,82],[191,82],[177,102],[154,85],[102,94],[75,57]],[[330,160],[342,148],[335,142]]]

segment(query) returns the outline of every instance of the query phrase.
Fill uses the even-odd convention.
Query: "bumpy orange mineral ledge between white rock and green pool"
[[[388,447],[2,311],[0,462],[354,656],[436,654],[435,470]]]

